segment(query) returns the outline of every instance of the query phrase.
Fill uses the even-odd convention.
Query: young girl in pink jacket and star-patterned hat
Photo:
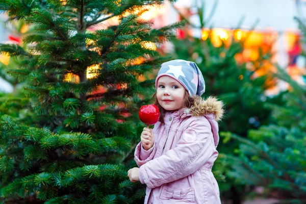
[[[222,102],[203,100],[205,82],[194,62],[163,63],[156,78],[161,115],[154,129],[143,129],[135,149],[140,168],[127,174],[146,184],[144,203],[221,203],[212,166],[217,159]]]

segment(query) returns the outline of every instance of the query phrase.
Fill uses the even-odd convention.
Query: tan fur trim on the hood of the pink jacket
[[[207,99],[195,97],[194,105],[190,108],[192,116],[205,116],[213,113],[216,121],[220,121],[224,114],[223,102],[214,96],[209,96]]]

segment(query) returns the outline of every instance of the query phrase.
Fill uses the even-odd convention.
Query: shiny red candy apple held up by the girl
[[[145,105],[139,109],[139,119],[146,124],[155,124],[157,123],[160,112],[157,106],[155,105]]]

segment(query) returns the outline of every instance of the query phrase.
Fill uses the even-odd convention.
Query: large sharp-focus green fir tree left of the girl
[[[151,100],[145,80],[168,58],[156,44],[179,23],[151,29],[142,15],[161,0],[2,1],[9,20],[35,33],[27,49],[2,44],[22,66],[31,124],[0,116],[0,189],[5,203],[143,202],[127,169],[142,125],[136,114]]]

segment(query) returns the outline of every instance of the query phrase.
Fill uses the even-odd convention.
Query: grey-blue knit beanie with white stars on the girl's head
[[[162,76],[168,76],[179,81],[191,96],[201,96],[205,92],[203,75],[194,62],[171,60],[163,63],[155,81],[156,89],[158,80]]]

